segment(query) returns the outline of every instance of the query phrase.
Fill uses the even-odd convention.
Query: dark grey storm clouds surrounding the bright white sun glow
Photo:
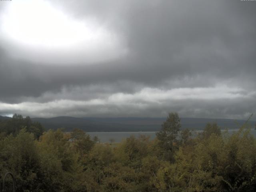
[[[34,106],[38,116],[166,116],[171,110],[182,116],[244,118],[255,112],[256,2],[51,3],[72,18],[95,18],[124,39],[128,54],[100,63],[74,60],[70,64],[45,64],[46,60],[41,59],[35,64],[26,58],[13,58],[5,48],[7,45],[1,44],[0,102],[31,102],[27,105]],[[156,88],[159,98],[145,101],[143,97],[152,93],[143,92],[145,88]],[[187,92],[174,91],[182,98],[178,101],[160,98],[176,88],[206,91],[184,98]],[[205,100],[208,88],[215,88],[224,99],[216,96]],[[239,96],[237,89],[242,92]],[[227,93],[230,98],[225,96]],[[110,100],[116,94],[130,97],[119,95],[118,98],[126,99],[114,104]],[[232,98],[234,95],[237,97]],[[97,99],[100,102],[95,104]],[[56,100],[63,100],[67,106],[69,103],[70,107],[63,109],[63,103],[54,103]],[[82,101],[87,103],[79,103]],[[41,103],[48,107],[43,108]],[[2,108],[0,114],[33,114],[25,105]]]

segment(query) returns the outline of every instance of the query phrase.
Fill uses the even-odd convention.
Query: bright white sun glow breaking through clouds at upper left
[[[44,0],[12,1],[0,21],[12,49],[29,60],[98,62],[126,52],[120,38],[96,20],[75,20]],[[30,57],[32,52],[38,53]]]

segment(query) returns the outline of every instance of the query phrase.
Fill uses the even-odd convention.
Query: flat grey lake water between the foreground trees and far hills
[[[230,134],[236,131],[237,129],[228,130]],[[195,131],[193,135],[196,135],[199,132],[202,132],[202,130]],[[251,133],[252,135],[256,136],[256,130],[252,129]],[[100,139],[100,142],[110,142],[110,140],[114,140],[114,142],[121,142],[123,139],[126,139],[132,135],[137,138],[140,135],[149,136],[150,139],[154,139],[156,137],[156,132],[87,132],[87,134],[89,134],[92,138],[97,136]]]

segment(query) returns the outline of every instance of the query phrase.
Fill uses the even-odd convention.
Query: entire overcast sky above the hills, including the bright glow
[[[256,1],[0,1],[0,115],[256,119]]]

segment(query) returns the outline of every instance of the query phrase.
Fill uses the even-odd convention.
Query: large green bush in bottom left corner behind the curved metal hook
[[[0,146],[1,181],[3,175],[11,171],[17,188],[38,191],[40,164],[33,134],[22,129],[16,137],[10,135],[0,140]]]

